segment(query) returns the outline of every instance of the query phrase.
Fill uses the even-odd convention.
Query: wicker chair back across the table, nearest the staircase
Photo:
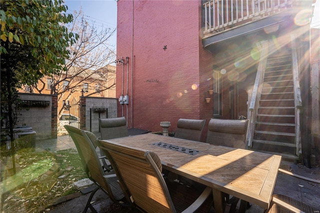
[[[249,120],[210,119],[206,142],[234,148],[246,148]]]

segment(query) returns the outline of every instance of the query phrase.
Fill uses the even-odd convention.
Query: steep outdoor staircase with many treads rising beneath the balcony
[[[285,46],[267,56],[262,88],[254,110],[250,148],[298,159],[299,128],[294,99],[291,47]],[[297,116],[299,117],[299,116]]]

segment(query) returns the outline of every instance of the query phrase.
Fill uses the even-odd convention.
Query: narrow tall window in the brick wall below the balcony
[[[213,116],[222,115],[222,75],[220,71],[213,70]]]

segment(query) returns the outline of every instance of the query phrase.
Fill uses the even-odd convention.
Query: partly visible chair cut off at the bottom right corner
[[[265,213],[290,213],[290,212],[319,212],[319,209],[315,209],[303,202],[300,202],[291,197],[282,194],[273,194],[271,205]]]

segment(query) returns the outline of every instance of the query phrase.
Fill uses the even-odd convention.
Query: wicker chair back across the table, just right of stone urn
[[[177,121],[174,137],[200,141],[205,120],[184,119]]]

